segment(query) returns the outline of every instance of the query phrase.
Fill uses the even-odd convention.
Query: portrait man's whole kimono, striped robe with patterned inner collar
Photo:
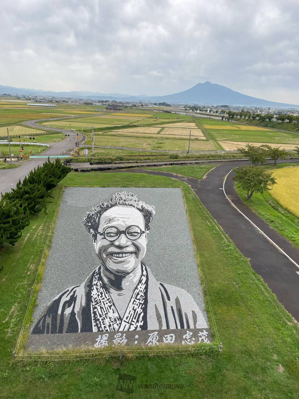
[[[54,298],[31,334],[207,328],[191,295],[158,282],[144,264],[123,317],[101,279],[98,266],[87,279]]]

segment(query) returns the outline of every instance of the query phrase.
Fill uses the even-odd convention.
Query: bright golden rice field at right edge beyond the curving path
[[[275,169],[272,176],[276,178],[270,194],[282,207],[299,217],[299,166]]]

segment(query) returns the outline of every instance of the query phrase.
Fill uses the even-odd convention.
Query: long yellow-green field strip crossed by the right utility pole
[[[90,140],[89,140],[90,141]],[[88,144],[91,143],[91,141]],[[118,146],[118,147],[133,147],[156,150],[187,150],[188,139],[171,139],[160,137],[160,135],[153,137],[132,137],[128,135],[114,136],[108,134],[96,134],[94,137],[94,144],[100,146]],[[205,140],[191,140],[190,149],[197,150],[217,150],[214,142]]]

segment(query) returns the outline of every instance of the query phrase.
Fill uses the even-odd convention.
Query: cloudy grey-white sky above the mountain
[[[1,0],[0,84],[299,104],[298,0]]]

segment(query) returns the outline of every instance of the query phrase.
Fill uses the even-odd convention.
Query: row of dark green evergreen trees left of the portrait
[[[22,230],[29,225],[31,215],[42,209],[47,212],[51,192],[71,168],[63,165],[57,158],[48,158],[43,166],[37,166],[0,199],[0,245],[14,245],[22,236]]]

